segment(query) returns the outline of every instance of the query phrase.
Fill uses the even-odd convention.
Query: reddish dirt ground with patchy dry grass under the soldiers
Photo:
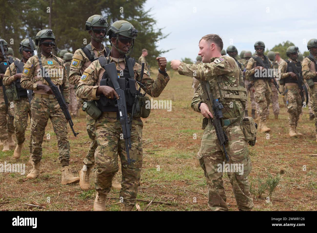
[[[147,210],[209,210],[204,173],[196,158],[203,135],[203,117],[190,107],[193,96],[192,79],[180,76],[177,72],[169,74],[171,80],[165,90],[159,98],[153,99],[171,100],[171,111],[153,109],[150,117],[143,120],[143,168],[137,203],[144,210],[148,202],[156,196]],[[155,79],[154,72],[152,77]],[[253,164],[249,175],[251,197],[255,205],[253,210],[316,211],[317,151],[314,121],[309,120],[308,107],[304,108],[298,126],[298,131],[303,136],[290,138],[288,113],[282,97],[279,98],[281,111],[278,120],[274,120],[272,105],[270,106],[269,137],[264,133],[258,133],[256,146],[249,147]],[[71,130],[68,130],[71,148],[70,167],[76,175],[83,166],[82,161],[90,140],[86,132],[84,112],[74,118],[73,122],[75,131],[80,133],[75,138]],[[41,175],[35,180],[26,178],[31,169],[28,164],[28,142],[25,143],[23,154],[18,160],[12,157],[13,150],[6,153],[0,151],[0,164],[24,163],[26,166],[24,175],[0,173],[0,210],[92,210],[94,189],[81,191],[79,184],[61,185],[57,140],[51,124],[46,128],[47,133],[51,138],[45,139],[42,144]],[[26,134],[29,140],[29,130]],[[196,139],[194,135],[197,136]],[[269,191],[268,188],[262,189],[261,180],[265,182],[277,176],[280,180],[268,201],[266,197]],[[236,200],[226,174],[223,180],[227,204],[231,211],[236,211]],[[91,184],[94,186],[94,177],[91,177]],[[107,210],[120,210],[118,190],[112,190],[107,198]],[[45,208],[29,207],[24,203],[37,203]]]

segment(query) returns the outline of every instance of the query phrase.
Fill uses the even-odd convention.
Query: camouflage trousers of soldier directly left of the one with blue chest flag
[[[16,143],[21,145],[25,141],[25,130],[28,126],[28,116],[31,119],[31,106],[28,97],[21,97],[14,104],[14,128],[16,134]],[[32,153],[32,135],[29,143],[29,150]]]

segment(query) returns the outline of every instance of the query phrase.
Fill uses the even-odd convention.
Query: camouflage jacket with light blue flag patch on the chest
[[[49,72],[49,77],[56,86],[62,86],[63,95],[66,103],[70,103],[69,85],[67,80],[67,71],[61,58],[51,54],[45,57],[41,54],[42,66]],[[48,85],[44,78],[41,77],[40,63],[37,55],[30,57],[24,64],[21,77],[21,87],[33,90],[34,93],[46,94],[44,90],[37,90],[37,85]]]

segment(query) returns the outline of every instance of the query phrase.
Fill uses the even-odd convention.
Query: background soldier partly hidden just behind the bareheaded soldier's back
[[[248,64],[249,59],[252,57],[252,53],[251,51],[245,51],[243,54],[243,58],[245,60],[245,62],[243,63],[243,66],[246,67]],[[243,70],[244,74],[245,74],[245,68]],[[249,77],[245,75],[244,77],[244,85],[245,88],[247,88],[248,91],[248,96],[250,97],[250,101],[251,101],[251,116],[253,118],[255,118],[255,113],[256,113],[256,101],[254,99],[254,86],[253,86],[253,82],[250,82]],[[244,115],[248,116],[248,108],[249,108],[249,100],[247,101],[246,105],[245,105],[245,110],[244,110]]]

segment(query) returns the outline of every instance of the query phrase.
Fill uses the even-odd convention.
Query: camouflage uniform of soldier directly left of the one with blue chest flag
[[[22,60],[19,62],[22,62]],[[14,63],[10,65],[10,71],[7,71],[3,77],[3,84],[10,85],[12,82],[16,81],[14,75],[16,74],[16,66]],[[28,116],[31,118],[31,106],[29,103],[29,98],[27,96],[20,97],[20,100],[14,101],[14,121],[13,125],[15,128],[16,143],[21,145],[25,141],[25,130],[28,126]],[[29,142],[29,151],[32,153],[32,135]]]

